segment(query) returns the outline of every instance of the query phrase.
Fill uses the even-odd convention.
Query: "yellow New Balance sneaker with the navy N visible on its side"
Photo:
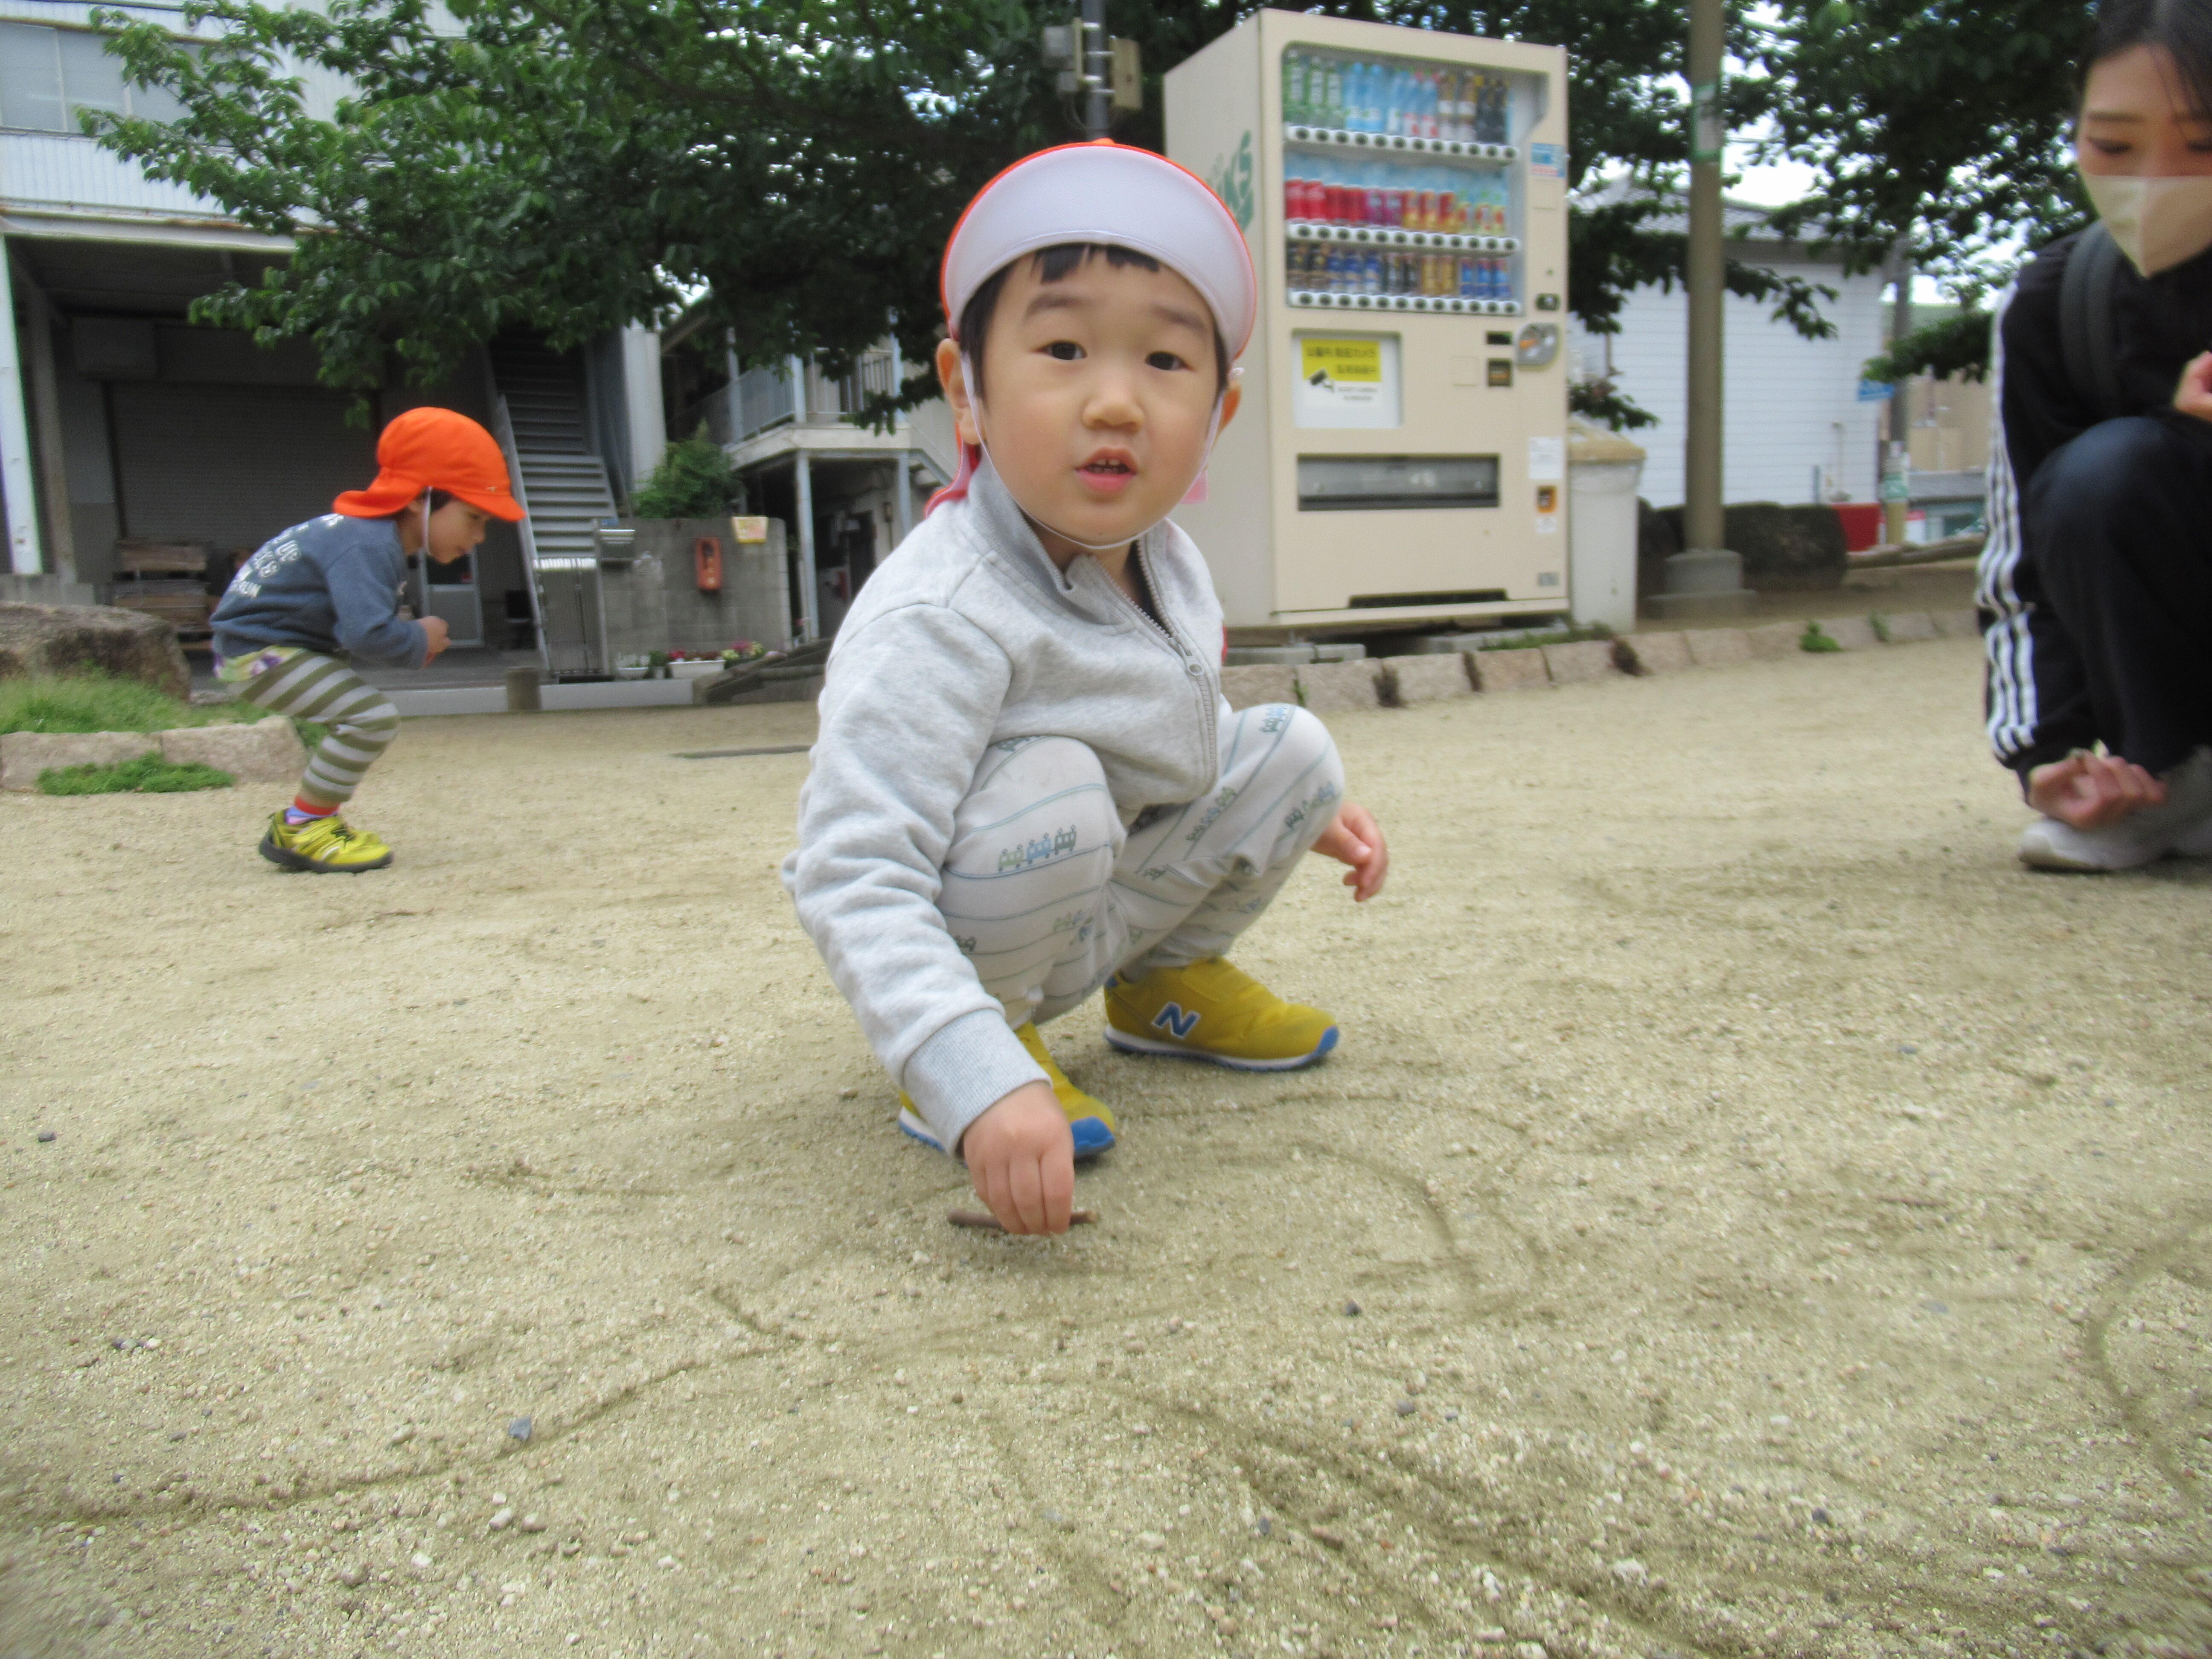
[[[1228,958],[1141,980],[1106,980],[1106,1042],[1133,1055],[1183,1055],[1232,1071],[1292,1071],[1336,1046],[1336,1020],[1283,1002]]]

